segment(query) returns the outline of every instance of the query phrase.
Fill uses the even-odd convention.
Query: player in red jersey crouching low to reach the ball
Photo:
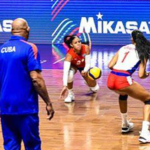
[[[82,77],[86,81],[90,90],[97,92],[99,85],[95,80],[91,80],[87,76],[87,72],[90,68],[90,50],[89,46],[81,43],[78,36],[65,36],[65,44],[69,47],[65,61],[64,61],[64,74],[63,74],[63,89],[60,97],[63,98],[68,90],[68,96],[65,98],[65,102],[72,102],[75,99],[73,93],[73,77],[77,70],[80,71]]]

